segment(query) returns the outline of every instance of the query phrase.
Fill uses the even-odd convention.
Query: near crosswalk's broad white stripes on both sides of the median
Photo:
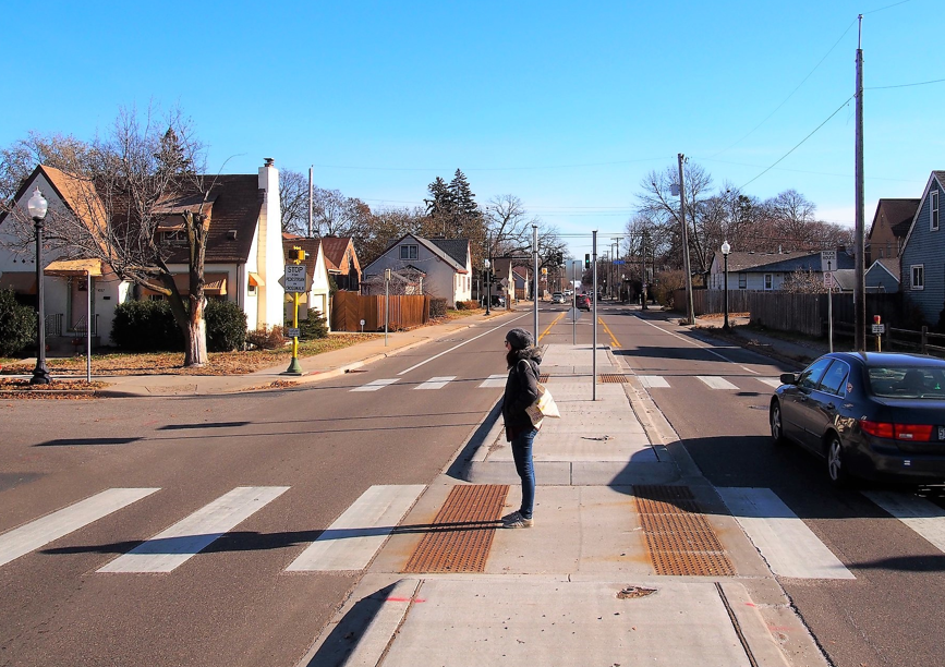
[[[305,545],[286,571],[366,569],[425,489],[422,484],[371,486],[316,539]],[[109,488],[2,533],[0,567],[160,490]],[[109,575],[172,573],[264,507],[292,501],[287,496],[289,490],[288,486],[237,487],[105,562],[95,572]],[[841,559],[773,490],[718,487],[717,492],[774,574],[796,579],[856,579]],[[945,510],[905,493],[864,490],[862,494],[945,554]]]

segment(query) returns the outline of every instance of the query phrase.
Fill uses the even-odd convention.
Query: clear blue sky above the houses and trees
[[[852,226],[852,99],[756,177],[853,94],[862,13],[867,225],[945,168],[945,83],[879,88],[945,77],[933,0],[28,4],[7,11],[2,145],[177,105],[214,170],[314,165],[318,185],[378,207],[420,204],[460,168],[481,204],[514,194],[562,233],[602,235],[683,153],[716,187],[795,189]]]

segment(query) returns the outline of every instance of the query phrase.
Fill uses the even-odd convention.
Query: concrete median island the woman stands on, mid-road
[[[587,345],[546,348],[542,372],[561,419],[545,420],[535,439],[535,526],[497,529],[497,517],[518,509],[521,496],[493,411],[495,423],[484,424],[447,469],[452,474],[445,471],[405,512],[300,667],[826,665],[715,488],[609,350],[597,351],[598,374],[627,381],[598,384],[591,400],[590,354]],[[458,488],[505,492],[492,485],[506,484],[494,516],[435,527]],[[666,489],[691,493],[694,505],[663,511],[702,525],[715,546],[700,546],[698,531],[659,534],[667,517],[644,516],[641,498]],[[336,556],[380,530],[348,527],[332,545]],[[425,541],[450,532],[462,535],[457,551],[488,538],[478,569],[412,567]],[[664,537],[675,546],[654,550]],[[463,562],[464,554],[447,556]],[[713,558],[730,571],[667,574],[657,567]]]

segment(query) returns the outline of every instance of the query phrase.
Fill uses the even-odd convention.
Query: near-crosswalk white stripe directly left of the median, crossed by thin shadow
[[[286,570],[363,570],[424,488],[423,484],[372,486]]]

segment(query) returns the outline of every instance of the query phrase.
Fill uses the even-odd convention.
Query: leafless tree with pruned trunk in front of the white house
[[[184,365],[207,360],[204,258],[213,180],[202,175],[204,147],[180,111],[161,119],[122,109],[109,133],[87,147],[76,172],[65,174],[72,209],[47,215],[46,240],[66,256],[96,258],[122,280],[163,294],[184,335]],[[29,243],[31,221],[14,207],[4,229],[12,245]],[[161,243],[161,229],[184,241]],[[185,255],[179,258],[178,255]],[[186,262],[189,294],[181,295],[169,268]]]

